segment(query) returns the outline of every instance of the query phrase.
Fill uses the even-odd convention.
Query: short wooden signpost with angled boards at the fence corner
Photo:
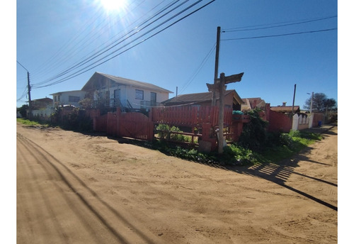
[[[217,135],[217,151],[222,153],[224,148],[224,91],[226,91],[226,84],[241,82],[244,73],[232,74],[225,77],[224,73],[220,74],[220,79],[216,79],[216,84],[207,84],[209,91],[219,92],[219,133]]]

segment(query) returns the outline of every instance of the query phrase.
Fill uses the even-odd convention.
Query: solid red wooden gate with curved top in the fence
[[[153,140],[154,123],[143,113],[120,113],[118,111],[118,136]]]

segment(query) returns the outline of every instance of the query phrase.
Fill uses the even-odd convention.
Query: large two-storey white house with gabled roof
[[[93,92],[96,104],[125,109],[149,109],[169,99],[172,91],[146,82],[95,72],[81,91]]]

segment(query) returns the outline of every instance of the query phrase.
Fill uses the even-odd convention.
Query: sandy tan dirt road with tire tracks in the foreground
[[[337,128],[280,164],[210,167],[17,125],[17,243],[337,243]]]

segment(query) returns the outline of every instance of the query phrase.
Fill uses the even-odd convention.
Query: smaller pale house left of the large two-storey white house
[[[60,91],[53,94],[52,106],[64,106],[72,105],[79,107],[79,101],[85,98],[85,91],[76,90],[76,91]]]

